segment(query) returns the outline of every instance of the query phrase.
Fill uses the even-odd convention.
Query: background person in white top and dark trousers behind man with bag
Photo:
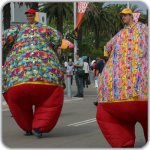
[[[84,66],[83,66],[83,70],[84,70],[84,77],[83,77],[83,86],[88,88],[88,77],[89,77],[89,64],[87,63],[87,59],[84,59]]]

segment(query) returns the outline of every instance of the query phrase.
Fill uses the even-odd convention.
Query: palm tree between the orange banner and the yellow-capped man
[[[100,34],[109,32],[109,28],[113,26],[109,20],[106,8],[103,6],[105,2],[93,2],[95,5],[95,12],[93,13],[88,10],[85,13],[85,19],[83,21],[84,27],[88,31],[94,31],[95,33],[95,48],[99,49],[100,44]],[[97,15],[98,13],[98,15]]]

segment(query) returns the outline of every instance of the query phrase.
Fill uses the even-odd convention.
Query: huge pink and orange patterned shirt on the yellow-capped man
[[[148,27],[126,26],[106,45],[109,54],[98,86],[98,102],[148,100]]]

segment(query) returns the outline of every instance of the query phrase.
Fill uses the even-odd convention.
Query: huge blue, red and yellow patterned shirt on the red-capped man
[[[2,92],[24,82],[44,81],[63,85],[64,75],[54,50],[61,45],[57,30],[35,23],[16,25],[4,31],[2,40],[10,52],[2,68]]]

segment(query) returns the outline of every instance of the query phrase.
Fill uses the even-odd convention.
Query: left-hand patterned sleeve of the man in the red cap
[[[2,34],[2,40],[4,40],[7,45],[11,45],[14,42],[15,37],[17,36],[18,26],[19,25],[15,25],[5,30],[4,33]]]

